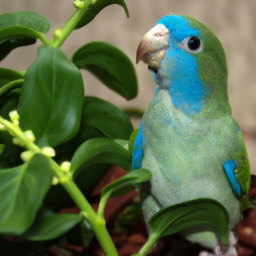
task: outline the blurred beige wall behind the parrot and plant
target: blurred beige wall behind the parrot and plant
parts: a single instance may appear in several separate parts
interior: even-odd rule
[[[0,0],[0,13],[31,10],[51,22],[48,38],[61,28],[75,11],[72,0]],[[252,170],[256,174],[256,1],[255,0],[126,0],[130,11],[127,19],[118,5],[105,8],[88,26],[76,30],[63,44],[68,57],[90,41],[107,41],[122,49],[135,65],[135,54],[142,36],[167,13],[192,16],[206,24],[219,37],[229,67],[229,98],[233,116],[244,132]],[[0,67],[25,70],[36,58],[40,45],[14,50]],[[1,49],[0,49],[1,50]],[[140,63],[135,66],[139,94],[127,102],[111,92],[91,74],[83,71],[85,94],[109,100],[121,108],[145,110],[153,97],[155,84]],[[134,121],[139,126],[139,121]]]

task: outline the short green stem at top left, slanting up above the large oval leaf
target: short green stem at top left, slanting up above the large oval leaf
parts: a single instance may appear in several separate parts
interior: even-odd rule
[[[76,27],[78,22],[83,17],[86,10],[87,10],[86,6],[84,6],[84,8],[82,8],[82,9],[77,9],[76,10],[76,12],[70,17],[70,19],[66,22],[64,27],[61,29],[61,36],[59,38],[55,38],[53,40],[53,42],[51,43],[52,46],[60,47],[65,42],[67,37],[74,30],[74,28]]]

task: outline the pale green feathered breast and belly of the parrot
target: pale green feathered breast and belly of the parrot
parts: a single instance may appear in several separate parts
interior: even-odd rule
[[[212,198],[226,207],[230,227],[239,220],[239,201],[223,170],[236,144],[233,118],[207,111],[187,116],[176,109],[168,90],[160,89],[143,117],[142,167],[152,172],[141,185],[146,219],[161,207]]]

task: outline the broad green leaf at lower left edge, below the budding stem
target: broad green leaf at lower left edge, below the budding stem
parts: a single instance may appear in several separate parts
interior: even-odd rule
[[[27,230],[51,180],[51,166],[41,154],[21,166],[0,170],[0,233],[19,235]]]

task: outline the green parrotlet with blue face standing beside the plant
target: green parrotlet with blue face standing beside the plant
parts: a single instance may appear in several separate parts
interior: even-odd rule
[[[140,60],[157,85],[132,152],[132,168],[152,172],[140,187],[146,222],[163,207],[210,198],[226,208],[231,230],[251,176],[243,135],[231,113],[219,39],[194,18],[166,15],[142,38]],[[220,251],[211,230],[184,234]]]

